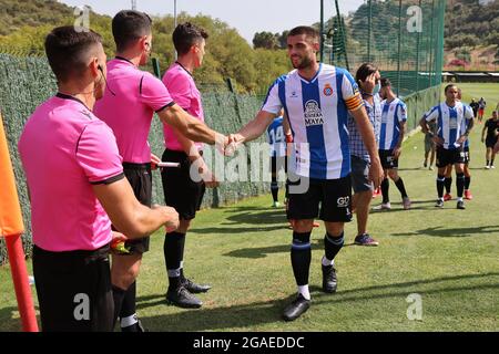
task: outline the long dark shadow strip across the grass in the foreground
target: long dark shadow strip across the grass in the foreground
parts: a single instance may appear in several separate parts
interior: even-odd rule
[[[468,281],[462,284],[462,281]],[[477,283],[477,281],[479,281]],[[448,284],[446,282],[458,282],[459,284]],[[472,283],[470,283],[472,282]],[[431,288],[428,289],[428,285]],[[485,274],[465,274],[455,277],[444,277],[427,280],[417,280],[410,282],[400,282],[393,284],[373,285],[366,288],[350,289],[342,291],[340,288],[336,294],[325,294],[319,287],[312,285],[313,305],[304,317],[313,315],[315,306],[328,304],[336,305],[340,303],[371,301],[379,299],[399,298],[405,301],[410,293],[421,295],[442,294],[448,292],[464,292],[477,290],[496,290],[499,287],[499,273],[491,272]],[[293,331],[293,324],[283,322],[282,312],[284,308],[295,298],[292,294],[284,299],[269,301],[258,301],[248,304],[218,306],[201,310],[181,310],[177,313],[155,316],[142,316],[143,323],[150,331],[220,331],[233,329],[247,329],[268,323],[279,323],[283,331]],[[145,302],[146,299],[154,300],[153,296],[139,298],[138,309],[144,309],[164,303],[163,300],[155,302]],[[163,299],[163,295],[161,295]],[[374,305],[374,304],[371,304]],[[342,308],[337,308],[340,311]],[[303,321],[298,319],[297,321]]]

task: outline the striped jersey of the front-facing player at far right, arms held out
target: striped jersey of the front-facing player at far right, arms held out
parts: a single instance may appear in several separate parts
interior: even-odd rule
[[[457,140],[465,133],[464,121],[472,118],[473,111],[461,102],[457,102],[454,107],[444,102],[425,114],[427,122],[437,123],[437,134],[444,139],[444,148],[450,150],[460,147]]]

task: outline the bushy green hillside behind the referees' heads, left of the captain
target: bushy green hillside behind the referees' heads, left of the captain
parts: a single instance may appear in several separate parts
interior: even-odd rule
[[[73,24],[74,9],[53,0],[0,0],[0,52],[20,55],[43,55],[47,33],[57,25]],[[3,11],[6,9],[6,11]],[[210,39],[205,64],[195,72],[203,86],[224,85],[233,79],[241,92],[264,93],[275,77],[289,71],[289,61],[282,50],[253,49],[227,23],[207,15],[179,15],[179,22],[191,21],[207,30]],[[164,72],[174,61],[172,15],[154,18],[153,56]],[[111,18],[95,12],[90,14],[90,28],[104,40],[108,56],[114,55]]]

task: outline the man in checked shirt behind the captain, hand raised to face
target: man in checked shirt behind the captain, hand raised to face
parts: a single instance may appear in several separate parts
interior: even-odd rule
[[[379,98],[381,75],[378,69],[371,63],[364,63],[355,75],[363,95],[370,128],[375,134],[376,142],[379,137],[379,125],[381,123],[381,102]],[[378,246],[379,242],[367,232],[370,202],[373,200],[373,183],[369,179],[370,156],[369,150],[364,145],[363,136],[359,133],[356,121],[348,117],[349,145],[352,154],[352,187],[354,198],[352,209],[357,216],[357,236],[354,243],[358,246]]]

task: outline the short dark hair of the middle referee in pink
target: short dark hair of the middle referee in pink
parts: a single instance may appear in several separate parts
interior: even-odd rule
[[[123,52],[141,37],[151,34],[152,19],[145,12],[122,10],[113,18],[112,29],[116,51]]]

